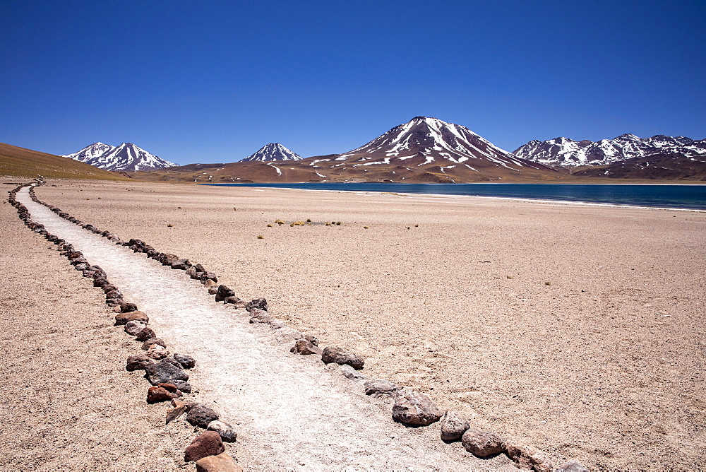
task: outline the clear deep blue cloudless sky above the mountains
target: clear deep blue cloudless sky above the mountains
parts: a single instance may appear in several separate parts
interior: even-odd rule
[[[706,1],[0,0],[0,141],[304,157],[417,115],[531,139],[706,138]]]

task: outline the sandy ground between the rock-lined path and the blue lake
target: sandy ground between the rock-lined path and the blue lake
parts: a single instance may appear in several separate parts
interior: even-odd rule
[[[37,195],[201,262],[359,350],[368,375],[558,463],[702,464],[703,213],[167,184]]]

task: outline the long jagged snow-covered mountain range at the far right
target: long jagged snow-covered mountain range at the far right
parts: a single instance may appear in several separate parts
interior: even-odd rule
[[[706,155],[706,140],[695,141],[683,136],[664,135],[640,138],[634,134],[621,134],[617,138],[594,143],[560,137],[549,141],[535,139],[517,148],[514,154],[546,165],[608,165],[653,154]]]

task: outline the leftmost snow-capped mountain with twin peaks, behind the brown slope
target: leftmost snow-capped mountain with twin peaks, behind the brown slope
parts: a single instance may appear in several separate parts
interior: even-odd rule
[[[104,150],[102,153],[100,151]],[[135,146],[133,143],[122,143],[114,147],[109,144],[95,143],[78,151],[78,153],[64,155],[65,158],[80,160],[81,162],[106,170],[151,170],[162,167],[174,167],[177,164],[158,158]]]

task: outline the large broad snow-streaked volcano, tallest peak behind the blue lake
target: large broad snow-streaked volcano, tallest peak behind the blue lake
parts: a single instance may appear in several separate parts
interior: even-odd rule
[[[460,165],[471,170],[475,170],[474,167],[478,165],[508,167],[513,170],[517,167],[545,168],[517,158],[465,126],[430,117],[414,117],[364,146],[335,156],[335,160],[346,160],[349,163],[357,161],[354,165],[393,163],[422,166],[436,163]]]

